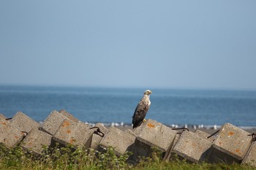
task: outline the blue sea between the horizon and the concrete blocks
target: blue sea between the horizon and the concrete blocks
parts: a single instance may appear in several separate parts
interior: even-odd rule
[[[21,111],[43,121],[51,111],[66,109],[88,123],[132,122],[142,88],[67,88],[0,86],[0,113]],[[256,91],[151,89],[146,119],[166,125],[256,126]]]

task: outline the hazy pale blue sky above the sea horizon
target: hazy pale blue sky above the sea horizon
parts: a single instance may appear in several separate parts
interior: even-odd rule
[[[0,1],[0,85],[256,89],[256,1]]]

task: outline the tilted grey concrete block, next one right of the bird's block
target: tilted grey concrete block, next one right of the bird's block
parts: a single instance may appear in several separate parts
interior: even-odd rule
[[[173,152],[182,158],[186,158],[194,163],[205,161],[211,147],[211,142],[203,139],[191,131],[183,131]]]

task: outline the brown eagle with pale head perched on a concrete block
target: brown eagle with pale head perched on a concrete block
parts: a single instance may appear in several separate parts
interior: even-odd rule
[[[135,113],[132,116],[133,128],[137,128],[141,125],[141,123],[146,121],[144,120],[144,118],[146,117],[148,108],[151,104],[151,101],[149,100],[149,96],[151,93],[151,90],[144,91],[143,98],[140,99],[140,102],[138,103],[138,106],[135,109]]]

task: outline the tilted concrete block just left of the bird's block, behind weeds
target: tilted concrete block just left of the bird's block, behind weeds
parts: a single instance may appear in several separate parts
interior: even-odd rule
[[[122,131],[115,127],[110,127],[99,146],[104,148],[113,147],[116,155],[122,155],[126,151],[132,151],[136,136],[129,131]]]

